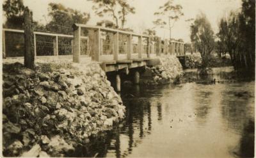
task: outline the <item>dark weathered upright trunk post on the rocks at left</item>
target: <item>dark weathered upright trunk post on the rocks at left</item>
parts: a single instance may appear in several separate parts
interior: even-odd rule
[[[35,68],[35,48],[34,48],[34,33],[33,33],[33,13],[29,11],[28,6],[24,9],[24,39],[25,53],[24,66],[26,68]]]

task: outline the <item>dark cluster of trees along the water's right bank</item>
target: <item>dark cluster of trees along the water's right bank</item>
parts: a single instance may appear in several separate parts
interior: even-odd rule
[[[231,11],[219,22],[219,31],[214,35],[204,13],[191,24],[191,42],[202,56],[202,66],[209,66],[212,52],[220,58],[228,53],[236,70],[255,72],[255,0],[242,0],[239,11]]]

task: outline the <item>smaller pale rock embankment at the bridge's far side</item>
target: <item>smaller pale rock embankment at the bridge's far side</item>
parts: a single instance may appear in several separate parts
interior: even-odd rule
[[[149,79],[143,80],[143,84],[158,85],[173,83],[179,80],[179,77],[183,74],[182,65],[176,56],[169,55],[159,57],[159,59],[160,65],[146,68],[146,73],[150,74],[150,77]]]

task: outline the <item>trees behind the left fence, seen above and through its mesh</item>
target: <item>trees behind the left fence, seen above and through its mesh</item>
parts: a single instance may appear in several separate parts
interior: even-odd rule
[[[125,28],[127,15],[135,13],[134,7],[130,6],[126,0],[111,0],[111,1],[94,1],[96,15],[104,17],[104,15],[112,14],[117,16],[118,22],[115,24],[112,20],[101,20],[97,22],[98,26],[106,26],[108,28],[118,28],[125,31],[132,31]],[[3,2],[3,11],[6,17],[6,22],[3,28],[24,29],[24,4],[22,0],[5,0]],[[108,10],[107,10],[108,8]],[[60,3],[49,3],[48,18],[45,18],[45,24],[33,21],[34,31],[61,33],[72,35],[72,24],[86,24],[90,20],[90,14],[68,8]],[[106,18],[106,17],[104,17]],[[115,19],[115,18],[114,18]],[[115,21],[115,20],[114,20]],[[120,26],[119,26],[120,22]],[[82,35],[86,36],[86,30],[82,30]],[[17,33],[6,32],[6,57],[23,56],[24,54],[24,36]],[[59,38],[59,54],[68,55],[72,52],[71,39]],[[82,48],[86,53],[86,44],[82,41]],[[36,36],[36,54],[38,56],[49,56],[54,53],[54,38],[51,36]]]

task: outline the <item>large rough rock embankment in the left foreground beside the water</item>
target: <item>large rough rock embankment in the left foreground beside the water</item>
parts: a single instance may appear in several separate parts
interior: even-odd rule
[[[125,107],[97,63],[3,64],[3,155],[63,157]]]

